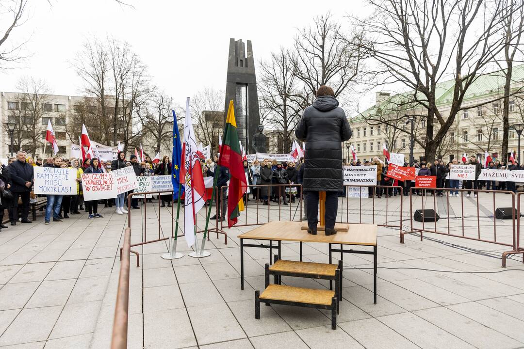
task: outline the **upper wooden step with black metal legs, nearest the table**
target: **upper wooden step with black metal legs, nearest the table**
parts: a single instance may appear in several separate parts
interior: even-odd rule
[[[336,276],[336,271],[340,271],[339,277]],[[330,280],[330,290],[333,289],[332,282],[335,282],[335,288],[338,288],[338,300],[342,300],[342,270],[343,264],[339,260],[339,264],[328,263],[313,263],[313,262],[297,262],[279,260],[278,255],[275,255],[275,262],[273,265],[266,264],[266,287],[269,285],[269,275],[274,275],[275,284],[280,285],[280,276],[296,276],[308,277],[312,279]]]

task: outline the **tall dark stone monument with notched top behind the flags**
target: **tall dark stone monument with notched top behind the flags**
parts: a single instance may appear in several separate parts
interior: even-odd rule
[[[251,41],[247,40],[247,54],[242,40],[230,39],[229,58],[227,61],[226,101],[224,122],[230,100],[235,105],[235,119],[238,139],[246,152],[253,154],[253,137],[260,124],[258,111],[257,80],[255,60]],[[263,135],[264,136],[264,135]],[[265,136],[264,136],[265,137]]]

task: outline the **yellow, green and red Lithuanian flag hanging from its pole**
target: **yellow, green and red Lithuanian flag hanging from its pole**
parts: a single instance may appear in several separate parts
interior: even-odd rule
[[[238,143],[233,100],[230,100],[230,106],[227,110],[219,165],[229,168],[231,175],[229,197],[227,199],[227,227],[231,228],[236,224],[240,212],[244,210],[243,196],[247,190],[246,175],[244,174],[244,165],[242,164],[242,151]]]

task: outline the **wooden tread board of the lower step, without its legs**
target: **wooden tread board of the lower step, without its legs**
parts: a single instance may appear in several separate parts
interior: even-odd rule
[[[271,284],[262,292],[259,298],[260,301],[278,300],[331,306],[331,299],[333,297],[335,297],[335,292],[330,290]]]

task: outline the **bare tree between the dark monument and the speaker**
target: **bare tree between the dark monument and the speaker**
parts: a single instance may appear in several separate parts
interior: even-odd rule
[[[265,110],[265,123],[279,132],[282,152],[291,151],[293,132],[310,97],[297,77],[293,56],[283,48],[271,53],[271,59],[260,63],[259,100]]]

